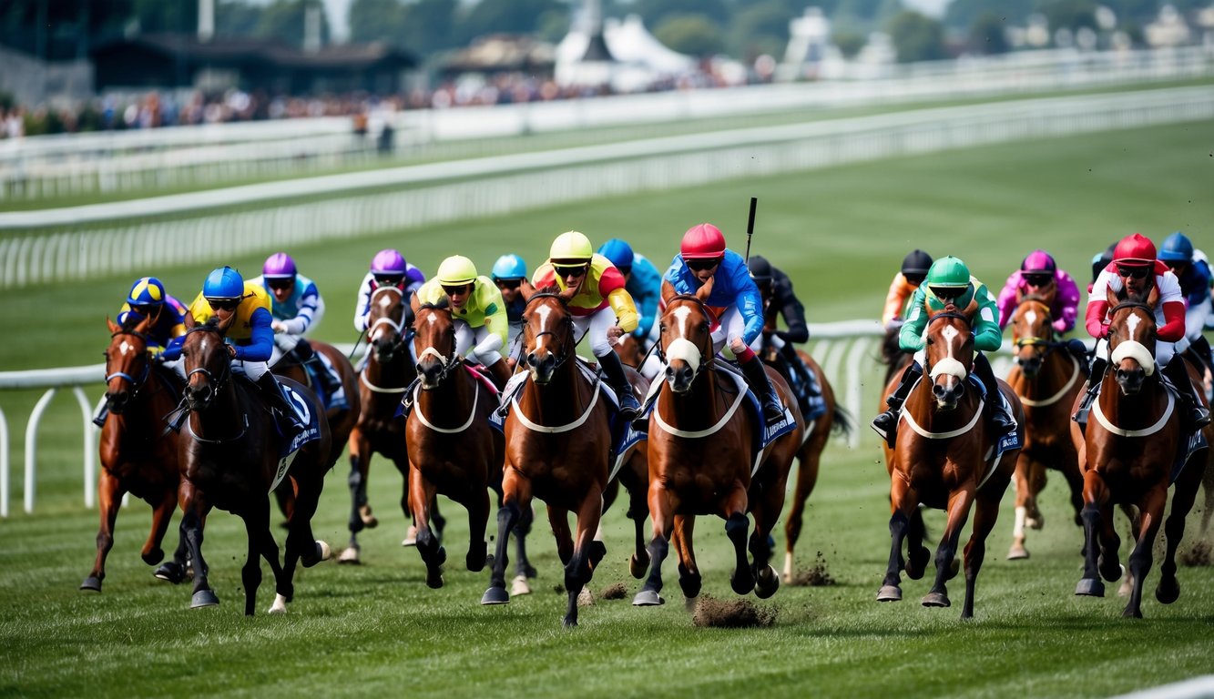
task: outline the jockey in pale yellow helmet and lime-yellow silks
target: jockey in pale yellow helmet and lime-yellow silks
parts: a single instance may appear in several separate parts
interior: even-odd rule
[[[489,370],[498,390],[505,388],[510,368],[500,350],[510,331],[506,303],[493,282],[476,273],[471,260],[463,255],[443,260],[438,274],[418,289],[418,302],[449,306],[455,325],[455,357],[471,351]]]

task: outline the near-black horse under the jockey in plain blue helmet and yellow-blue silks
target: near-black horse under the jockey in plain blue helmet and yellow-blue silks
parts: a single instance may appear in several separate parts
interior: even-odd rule
[[[329,547],[312,535],[312,515],[324,487],[329,461],[329,425],[318,420],[319,438],[300,447],[287,478],[295,491],[295,511],[287,534],[285,562],[278,563],[278,545],[270,530],[270,491],[279,471],[279,441],[274,417],[261,399],[260,390],[238,380],[223,336],[236,320],[215,318],[197,324],[186,314],[182,347],[187,385],[182,408],[188,411],[187,436],[180,439],[181,535],[189,547],[194,567],[191,607],[211,607],[219,598],[208,582],[203,558],[203,525],[212,507],[227,510],[244,521],[249,538],[248,557],[240,570],[244,585],[244,613],[253,615],[261,585],[259,555],[274,574],[277,596],[271,613],[287,610],[294,596],[295,566],[311,567],[329,557]],[[322,410],[319,400],[289,379],[282,382],[295,390],[310,411]]]

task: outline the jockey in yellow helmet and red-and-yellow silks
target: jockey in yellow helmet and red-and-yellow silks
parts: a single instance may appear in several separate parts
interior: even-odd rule
[[[624,275],[611,260],[596,255],[590,239],[569,231],[561,233],[549,248],[549,258],[532,277],[535,289],[556,286],[577,289],[569,300],[575,341],[590,335],[590,351],[602,369],[608,385],[619,399],[619,414],[632,420],[641,410],[632,386],[624,374],[624,364],[612,350],[619,336],[636,329],[636,306],[625,288]]]

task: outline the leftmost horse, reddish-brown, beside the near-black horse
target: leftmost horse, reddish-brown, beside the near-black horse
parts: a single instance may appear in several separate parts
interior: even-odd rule
[[[148,566],[164,558],[164,541],[172,511],[177,506],[177,433],[164,432],[164,416],[181,398],[181,383],[169,371],[153,366],[148,357],[147,330],[151,319],[127,319],[123,325],[106,319],[112,333],[106,350],[106,407],[109,415],[101,428],[101,473],[97,500],[101,528],[97,530],[97,558],[81,590],[101,592],[106,579],[106,557],[114,546],[114,523],[123,495],[134,494],[152,506],[152,532],[141,556]],[[181,540],[171,562],[155,576],[181,582],[186,576],[186,549]]]

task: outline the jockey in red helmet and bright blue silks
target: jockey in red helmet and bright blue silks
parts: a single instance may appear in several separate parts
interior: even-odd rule
[[[692,226],[683,234],[679,255],[666,269],[665,280],[679,294],[694,294],[713,279],[713,291],[705,305],[719,325],[713,330],[713,351],[720,352],[728,340],[730,352],[762,404],[767,426],[784,416],[784,404],[772,387],[764,363],[750,348],[762,334],[762,296],[750,278],[745,260],[725,246],[725,234],[711,223]]]

